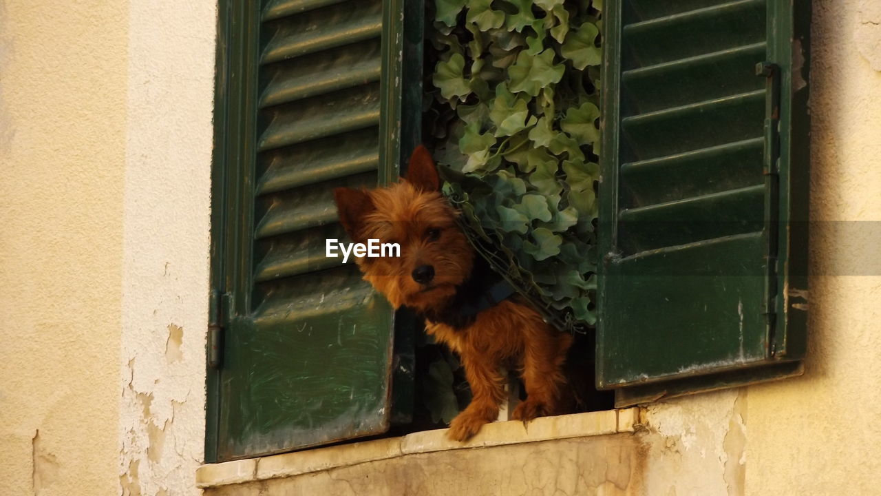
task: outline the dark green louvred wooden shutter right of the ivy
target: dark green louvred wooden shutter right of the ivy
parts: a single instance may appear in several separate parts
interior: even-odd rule
[[[618,405],[801,370],[810,8],[606,4],[596,368]]]

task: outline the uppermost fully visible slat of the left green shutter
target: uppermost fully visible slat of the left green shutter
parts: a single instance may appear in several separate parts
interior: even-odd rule
[[[261,64],[378,37],[382,32],[381,3],[346,2],[273,24],[277,29],[263,49]]]

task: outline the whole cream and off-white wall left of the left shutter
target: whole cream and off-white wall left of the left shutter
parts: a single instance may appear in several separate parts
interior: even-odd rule
[[[200,492],[216,19],[0,2],[0,494]]]

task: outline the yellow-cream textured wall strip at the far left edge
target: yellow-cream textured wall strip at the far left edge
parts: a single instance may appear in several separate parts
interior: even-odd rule
[[[117,492],[128,24],[0,2],[0,494]]]

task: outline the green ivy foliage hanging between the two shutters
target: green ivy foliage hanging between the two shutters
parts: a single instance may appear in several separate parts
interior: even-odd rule
[[[493,267],[570,330],[596,321],[602,10],[434,0],[426,49],[426,132],[445,194]]]

